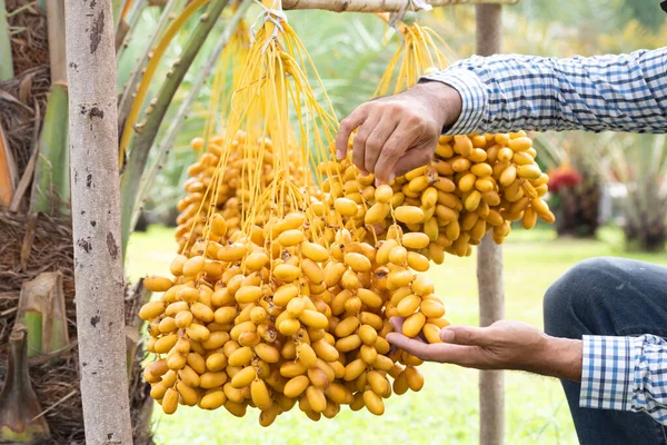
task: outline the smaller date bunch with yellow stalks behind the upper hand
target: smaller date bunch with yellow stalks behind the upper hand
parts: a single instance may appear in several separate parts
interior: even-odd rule
[[[420,76],[449,66],[436,41],[446,43],[432,30],[417,22],[399,22],[398,30],[401,44],[376,96],[387,95],[391,85],[394,93],[400,92]],[[398,222],[406,234],[426,235],[428,243],[416,251],[440,264],[445,253],[470,255],[471,246],[487,231],[492,230],[494,240],[502,243],[512,221],[521,220],[526,229],[535,226],[537,217],[554,222],[554,214],[541,199],[548,177],[535,161],[536,155],[524,131],[442,136],[428,166],[396,178],[382,190],[376,191],[372,176],[362,185],[354,180],[359,170],[349,152],[337,171],[346,172],[340,178],[345,197],[368,209],[355,217],[364,219],[374,237],[384,239],[387,227]],[[325,182],[325,191],[328,187]]]

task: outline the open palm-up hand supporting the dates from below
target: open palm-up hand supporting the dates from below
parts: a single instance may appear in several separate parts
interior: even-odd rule
[[[579,382],[581,340],[550,337],[521,322],[496,322],[489,327],[447,326],[444,343],[429,345],[401,332],[404,318],[390,319],[387,340],[417,357],[477,369],[518,369]]]

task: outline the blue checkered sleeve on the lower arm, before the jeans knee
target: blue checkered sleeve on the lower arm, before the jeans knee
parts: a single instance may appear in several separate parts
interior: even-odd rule
[[[646,412],[667,425],[667,342],[585,335],[579,406]]]

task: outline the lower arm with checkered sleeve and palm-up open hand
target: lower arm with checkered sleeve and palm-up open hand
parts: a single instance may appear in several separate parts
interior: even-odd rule
[[[479,328],[448,326],[444,343],[407,338],[394,317],[387,340],[426,360],[477,369],[517,369],[581,382],[584,408],[646,412],[667,425],[667,342],[654,335],[581,340],[551,337],[519,322]]]

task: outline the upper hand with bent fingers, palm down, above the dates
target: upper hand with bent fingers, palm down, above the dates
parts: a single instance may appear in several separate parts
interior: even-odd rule
[[[352,160],[379,184],[428,164],[445,126],[461,112],[461,98],[448,85],[418,83],[396,96],[359,106],[340,122],[336,157],[346,156],[352,131]]]

